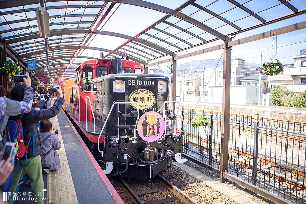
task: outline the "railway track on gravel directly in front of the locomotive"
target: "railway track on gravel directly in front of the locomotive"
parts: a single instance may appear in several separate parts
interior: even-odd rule
[[[186,195],[183,191],[181,191],[179,188],[183,187],[184,185],[174,185],[170,183],[166,178],[162,177],[160,174],[154,177],[153,180],[148,180],[148,181],[142,181],[142,182],[136,182],[136,183],[131,183],[128,184],[123,178],[118,178],[118,182],[121,184],[123,189],[125,190],[125,194],[121,194],[121,198],[126,198],[129,197],[135,204],[143,204],[144,201],[140,199],[140,196],[149,196],[149,194],[161,192],[161,191],[171,191],[174,196],[170,196],[168,198],[164,199],[159,199],[159,200],[154,200],[154,201],[149,201],[145,202],[146,204],[159,204],[159,203],[167,203],[167,202],[173,202],[176,200],[182,200],[185,203],[192,203],[196,204],[195,201],[191,199],[191,197],[196,196],[195,193],[188,194]],[[144,191],[133,191],[132,186],[134,185],[142,185],[142,184],[150,184],[153,182],[160,182],[163,184],[163,187],[160,188],[152,188]]]

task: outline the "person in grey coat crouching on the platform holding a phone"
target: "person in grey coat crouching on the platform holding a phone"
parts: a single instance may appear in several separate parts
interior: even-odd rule
[[[43,156],[41,165],[43,173],[49,173],[48,169],[58,169],[61,167],[59,155],[56,150],[61,148],[62,142],[58,137],[51,133],[52,123],[49,121],[40,122],[41,127],[41,147],[43,149]]]

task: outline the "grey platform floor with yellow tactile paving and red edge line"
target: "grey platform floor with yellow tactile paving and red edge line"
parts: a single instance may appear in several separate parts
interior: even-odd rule
[[[52,101],[53,102],[53,101]],[[91,155],[87,146],[69,121],[63,110],[50,119],[54,129],[59,129],[58,137],[62,146],[57,150],[61,167],[43,174],[45,203],[123,203],[101,167]],[[18,192],[31,192],[24,183],[17,187]],[[16,201],[16,204],[33,201]]]

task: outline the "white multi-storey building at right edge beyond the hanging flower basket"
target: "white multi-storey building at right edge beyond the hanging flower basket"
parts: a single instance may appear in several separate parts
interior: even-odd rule
[[[268,82],[275,85],[286,85],[288,91],[301,93],[306,90],[306,55],[293,56],[293,66],[285,66],[284,74],[268,76]]]

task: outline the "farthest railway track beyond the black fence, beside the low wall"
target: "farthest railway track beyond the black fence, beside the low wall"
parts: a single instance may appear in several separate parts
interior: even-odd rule
[[[189,119],[192,120],[192,118],[190,118],[189,116],[186,116],[184,119],[188,121]],[[214,121],[213,125],[221,126],[221,122]],[[248,133],[254,133],[254,127],[248,126],[245,124],[239,124],[239,123],[237,124],[237,123],[231,122],[230,129],[240,130],[240,131],[244,131]],[[265,128],[259,127],[258,129],[259,135],[263,135],[263,136],[267,135],[267,136],[272,136],[274,138],[279,138],[282,140],[296,141],[296,142],[306,144],[306,135],[303,135],[301,133],[292,133],[292,131],[293,131],[292,129],[291,130],[287,129],[286,131],[284,131],[284,130],[273,130],[273,129],[269,129],[266,127]]]

